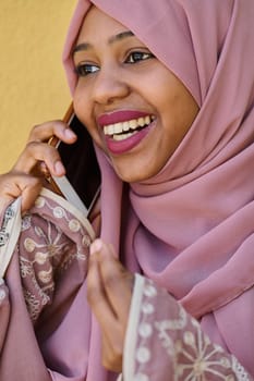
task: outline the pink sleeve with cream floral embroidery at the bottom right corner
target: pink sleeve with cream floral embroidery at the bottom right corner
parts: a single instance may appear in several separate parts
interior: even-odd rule
[[[166,290],[141,275],[135,275],[122,379],[253,380],[234,356],[210,342]]]

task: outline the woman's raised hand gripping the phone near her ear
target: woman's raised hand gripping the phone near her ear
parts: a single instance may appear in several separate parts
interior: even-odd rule
[[[58,150],[47,143],[52,136],[66,144],[76,139],[75,134],[61,121],[35,126],[13,169],[0,175],[0,210],[20,195],[22,211],[29,209],[43,186],[45,174],[61,176],[65,173]]]

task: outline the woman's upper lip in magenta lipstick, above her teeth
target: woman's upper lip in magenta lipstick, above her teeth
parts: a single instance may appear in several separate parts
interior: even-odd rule
[[[119,110],[110,113],[105,113],[98,116],[98,124],[102,127],[105,125],[131,121],[133,119],[150,115],[149,112],[137,110]]]

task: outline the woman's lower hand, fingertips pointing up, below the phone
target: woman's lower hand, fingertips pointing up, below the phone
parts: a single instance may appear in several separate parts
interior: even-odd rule
[[[116,258],[111,245],[90,245],[87,298],[102,335],[102,365],[122,371],[122,356],[134,275]]]

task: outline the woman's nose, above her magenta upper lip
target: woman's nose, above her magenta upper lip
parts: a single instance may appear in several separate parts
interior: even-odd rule
[[[109,105],[130,94],[130,86],[114,67],[100,69],[93,88],[93,99],[100,105]]]

